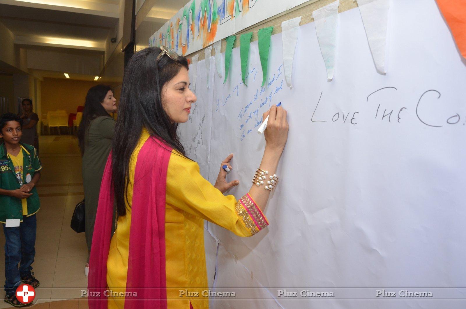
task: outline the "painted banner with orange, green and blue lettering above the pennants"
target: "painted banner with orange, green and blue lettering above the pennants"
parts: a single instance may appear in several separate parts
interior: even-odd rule
[[[150,38],[188,55],[306,0],[191,0]]]

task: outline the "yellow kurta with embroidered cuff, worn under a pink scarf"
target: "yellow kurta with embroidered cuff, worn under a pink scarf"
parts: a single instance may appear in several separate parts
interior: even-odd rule
[[[130,161],[128,200],[132,201],[137,155],[149,138],[144,130]],[[148,188],[150,190],[150,188]],[[199,165],[176,150],[171,152],[167,170],[165,204],[165,255],[168,308],[208,308],[204,251],[204,219],[243,237],[252,236],[268,225],[260,209],[247,195],[237,201],[224,196],[199,174]],[[128,272],[131,209],[118,218],[107,260],[107,285],[113,292],[125,292]],[[149,283],[148,283],[149,285]],[[180,290],[198,292],[199,297],[180,296]],[[193,294],[191,294],[193,295]],[[109,308],[123,308],[124,297],[109,297]]]

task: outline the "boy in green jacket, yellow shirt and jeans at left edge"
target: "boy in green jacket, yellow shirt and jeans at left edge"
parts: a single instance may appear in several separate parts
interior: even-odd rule
[[[13,113],[0,118],[0,222],[5,234],[4,301],[15,306],[23,304],[15,291],[21,283],[37,288],[39,281],[31,273],[35,255],[36,212],[40,202],[35,185],[41,177],[41,161],[36,149],[20,143],[22,119]],[[20,267],[18,264],[21,262]]]

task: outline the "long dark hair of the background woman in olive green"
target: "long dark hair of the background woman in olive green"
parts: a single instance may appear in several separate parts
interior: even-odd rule
[[[113,92],[112,87],[99,84],[91,87],[86,95],[86,103],[84,104],[84,111],[78,128],[78,143],[81,148],[81,155],[84,155],[84,136],[90,121],[99,116],[111,117],[101,104],[109,91]]]

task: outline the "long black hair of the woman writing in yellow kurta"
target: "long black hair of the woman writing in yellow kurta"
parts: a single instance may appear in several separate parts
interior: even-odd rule
[[[145,127],[151,136],[164,140],[185,156],[185,149],[177,135],[178,123],[171,123],[162,106],[162,87],[175,77],[181,68],[189,70],[188,61],[179,56],[175,61],[161,50],[148,47],[135,53],[123,75],[118,106],[118,121],[112,146],[112,185],[118,216],[126,214],[128,201],[130,158]]]

